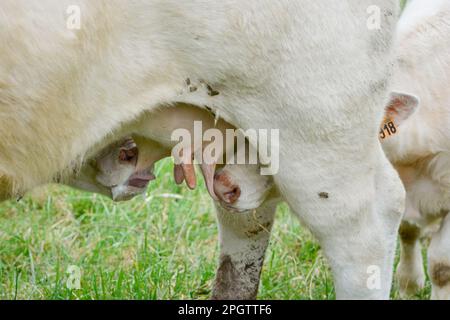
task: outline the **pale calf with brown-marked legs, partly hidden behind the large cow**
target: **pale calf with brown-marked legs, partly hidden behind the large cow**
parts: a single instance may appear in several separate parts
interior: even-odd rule
[[[393,87],[420,107],[383,147],[406,188],[397,279],[403,296],[423,288],[419,238],[438,223],[428,248],[432,298],[450,299],[450,2],[410,1],[398,27]]]

